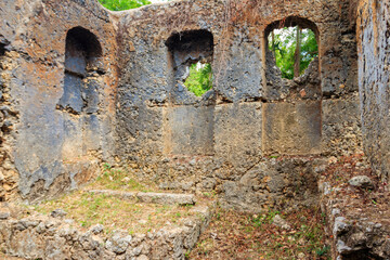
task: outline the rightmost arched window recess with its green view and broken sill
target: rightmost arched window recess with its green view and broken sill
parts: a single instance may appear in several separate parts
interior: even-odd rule
[[[316,25],[290,16],[270,24],[264,32],[268,99],[321,99]]]

